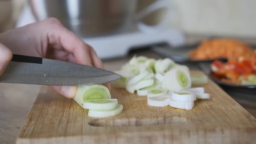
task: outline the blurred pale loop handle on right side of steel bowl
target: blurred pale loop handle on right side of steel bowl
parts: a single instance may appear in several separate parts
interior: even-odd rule
[[[140,21],[141,18],[143,18],[144,16],[147,16],[149,13],[152,13],[162,8],[167,8],[167,13],[164,16],[164,19],[157,25],[151,26]],[[151,32],[156,32],[156,31],[161,31],[163,29],[166,29],[170,25],[172,9],[173,7],[171,5],[170,0],[157,0],[156,2],[150,4],[145,9],[139,11],[135,16],[135,20],[138,22],[137,23],[138,29],[145,33],[151,33]]]

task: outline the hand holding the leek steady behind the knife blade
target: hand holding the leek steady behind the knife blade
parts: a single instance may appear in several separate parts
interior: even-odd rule
[[[104,69],[95,50],[66,29],[59,20],[49,18],[0,34],[0,42],[14,54],[57,59]],[[109,85],[106,85],[109,88]],[[73,98],[77,87],[50,86]]]

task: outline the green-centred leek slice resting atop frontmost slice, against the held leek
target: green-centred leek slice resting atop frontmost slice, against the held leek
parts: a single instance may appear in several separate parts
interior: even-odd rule
[[[117,108],[118,100],[117,99],[93,99],[84,102],[85,109],[92,110],[112,110]]]

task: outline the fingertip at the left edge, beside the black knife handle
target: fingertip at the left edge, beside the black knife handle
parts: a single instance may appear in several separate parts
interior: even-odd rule
[[[3,74],[12,58],[13,54],[10,49],[0,43],[0,75]]]

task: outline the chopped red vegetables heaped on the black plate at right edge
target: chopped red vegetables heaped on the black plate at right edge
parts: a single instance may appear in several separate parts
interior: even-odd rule
[[[241,56],[238,59],[229,59],[226,63],[215,60],[211,69],[222,82],[256,85],[256,50],[248,58]]]

